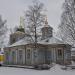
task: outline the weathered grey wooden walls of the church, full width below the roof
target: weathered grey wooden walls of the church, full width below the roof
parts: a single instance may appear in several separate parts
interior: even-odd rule
[[[33,45],[6,48],[4,50],[4,63],[9,65],[36,65],[50,64],[52,62],[69,64],[71,62],[70,48],[71,46],[69,45],[38,45],[36,55],[35,47]],[[58,50],[61,50],[62,54],[60,51],[58,54]],[[15,53],[15,58],[12,58],[13,51]]]

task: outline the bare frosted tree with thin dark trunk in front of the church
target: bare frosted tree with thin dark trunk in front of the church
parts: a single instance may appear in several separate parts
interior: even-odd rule
[[[44,12],[44,4],[35,0],[33,4],[29,6],[29,9],[26,11],[25,20],[28,26],[29,32],[34,36],[35,43],[35,57],[37,56],[37,32],[38,27],[44,25],[45,15]]]

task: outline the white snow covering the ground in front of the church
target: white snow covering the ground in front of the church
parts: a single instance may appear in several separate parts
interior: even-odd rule
[[[62,70],[61,66],[55,65],[49,70],[33,70],[23,68],[0,67],[0,75],[75,75],[74,70]]]

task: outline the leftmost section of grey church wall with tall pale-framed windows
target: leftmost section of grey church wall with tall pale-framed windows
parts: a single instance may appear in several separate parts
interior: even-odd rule
[[[22,51],[19,54],[19,51]],[[13,54],[13,55],[12,55]],[[22,59],[20,59],[22,57]],[[23,65],[25,64],[25,48],[24,46],[11,47],[4,50],[4,63],[11,65]]]

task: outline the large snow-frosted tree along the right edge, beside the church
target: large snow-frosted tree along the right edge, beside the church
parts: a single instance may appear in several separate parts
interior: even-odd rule
[[[64,41],[75,42],[75,0],[65,0],[63,8],[59,34]]]

